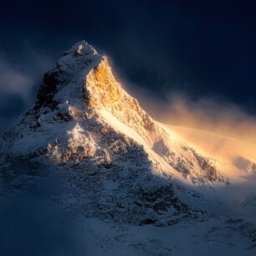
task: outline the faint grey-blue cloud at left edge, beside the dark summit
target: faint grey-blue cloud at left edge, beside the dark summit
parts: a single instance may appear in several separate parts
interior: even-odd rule
[[[0,51],[0,97],[2,104],[12,97],[18,97],[26,105],[31,103],[40,79],[52,59],[38,54],[34,49],[24,49],[22,59],[13,59]]]

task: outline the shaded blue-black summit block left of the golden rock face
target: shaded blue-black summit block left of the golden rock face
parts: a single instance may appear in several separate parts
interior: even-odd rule
[[[53,110],[59,102],[81,99],[86,75],[90,69],[98,66],[102,59],[103,56],[84,40],[74,44],[64,52],[54,69],[44,74],[38,90],[36,109],[48,106]]]

